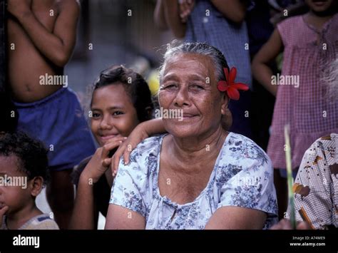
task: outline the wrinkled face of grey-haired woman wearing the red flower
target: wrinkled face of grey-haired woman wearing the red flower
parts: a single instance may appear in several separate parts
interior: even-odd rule
[[[163,110],[181,110],[183,120],[163,118],[165,129],[177,138],[213,133],[220,126],[227,98],[217,90],[211,58],[180,53],[165,65],[159,102]]]

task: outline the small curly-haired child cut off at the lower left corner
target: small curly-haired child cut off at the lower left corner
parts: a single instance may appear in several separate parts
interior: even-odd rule
[[[0,229],[58,229],[35,202],[47,172],[41,142],[21,132],[0,135]]]

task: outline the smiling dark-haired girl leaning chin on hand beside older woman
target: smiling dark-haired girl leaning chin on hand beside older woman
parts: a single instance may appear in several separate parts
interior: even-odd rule
[[[78,188],[71,229],[96,229],[98,212],[106,216],[111,156],[138,123],[150,119],[152,110],[148,84],[138,73],[123,66],[101,72],[91,99],[91,131],[100,148],[73,172]]]

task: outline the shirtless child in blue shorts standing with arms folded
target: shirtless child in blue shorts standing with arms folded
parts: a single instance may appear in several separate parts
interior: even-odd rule
[[[73,209],[71,169],[95,152],[76,94],[63,68],[76,43],[76,0],[9,0],[9,88],[18,129],[42,140],[51,180],[46,194],[56,222],[68,227]]]

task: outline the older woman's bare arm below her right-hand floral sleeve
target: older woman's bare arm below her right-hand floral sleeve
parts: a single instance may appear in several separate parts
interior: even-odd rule
[[[205,229],[262,229],[267,219],[265,212],[245,207],[220,207]]]

